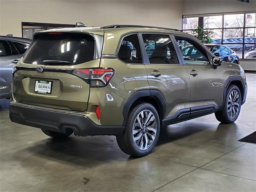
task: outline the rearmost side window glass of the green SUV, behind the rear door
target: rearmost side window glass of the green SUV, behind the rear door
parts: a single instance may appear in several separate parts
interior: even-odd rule
[[[140,42],[137,34],[124,38],[118,52],[118,58],[126,63],[142,64]]]

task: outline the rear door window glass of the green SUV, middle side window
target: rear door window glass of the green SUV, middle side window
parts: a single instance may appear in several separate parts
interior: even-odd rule
[[[169,35],[142,34],[150,64],[179,64]]]

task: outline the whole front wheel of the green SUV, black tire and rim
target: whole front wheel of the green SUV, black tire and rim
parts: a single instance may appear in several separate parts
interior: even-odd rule
[[[215,112],[215,116],[222,123],[233,123],[239,116],[242,104],[241,93],[237,86],[230,85],[228,87],[224,102],[222,110]]]

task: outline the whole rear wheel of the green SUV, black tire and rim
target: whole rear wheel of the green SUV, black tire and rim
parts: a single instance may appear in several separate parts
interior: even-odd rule
[[[156,108],[149,103],[141,103],[130,110],[124,133],[117,135],[116,140],[124,153],[142,157],[152,152],[159,132],[160,120]]]

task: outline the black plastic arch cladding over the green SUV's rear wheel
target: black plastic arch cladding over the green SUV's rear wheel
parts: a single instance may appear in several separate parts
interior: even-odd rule
[[[159,115],[160,123],[162,123],[162,119],[165,116],[166,113],[166,101],[164,99],[164,96],[159,91],[156,90],[142,90],[135,92],[124,104],[123,109],[123,116],[124,116],[124,123],[123,125],[126,125],[127,117],[129,114],[129,111],[136,106],[139,103],[147,102],[152,104]]]

